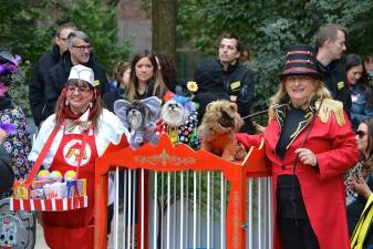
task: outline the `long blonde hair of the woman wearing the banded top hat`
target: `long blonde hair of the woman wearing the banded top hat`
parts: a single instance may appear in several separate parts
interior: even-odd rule
[[[284,87],[286,81],[287,81],[287,77],[284,77],[281,81],[277,92],[269,98],[269,101],[270,101],[270,107],[269,107],[269,114],[268,114],[269,118],[273,117],[274,106],[291,102],[291,100],[288,95],[288,92]],[[321,98],[332,98],[332,95],[329,92],[329,90],[325,87],[325,85],[322,81],[314,79],[313,92],[311,93],[311,95],[309,97],[309,101],[307,102],[307,104],[304,106],[302,106],[302,108],[308,108],[312,100],[320,101]]]

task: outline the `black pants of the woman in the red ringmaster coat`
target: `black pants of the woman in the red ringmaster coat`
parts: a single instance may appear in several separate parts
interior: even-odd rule
[[[279,230],[283,249],[320,249],[309,219],[279,217]]]

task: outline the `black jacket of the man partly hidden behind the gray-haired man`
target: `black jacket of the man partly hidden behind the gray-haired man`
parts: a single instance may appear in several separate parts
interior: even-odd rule
[[[31,83],[29,86],[29,101],[35,124],[39,126],[48,116],[43,114],[45,108],[45,76],[49,71],[59,63],[61,59],[60,48],[54,45],[51,51],[45,52],[32,71]]]

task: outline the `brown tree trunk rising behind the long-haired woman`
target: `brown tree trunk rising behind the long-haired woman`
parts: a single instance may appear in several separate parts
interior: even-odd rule
[[[153,52],[176,54],[177,0],[153,0]]]

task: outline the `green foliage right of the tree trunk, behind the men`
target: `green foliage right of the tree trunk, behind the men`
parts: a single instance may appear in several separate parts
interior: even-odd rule
[[[321,24],[336,22],[350,30],[349,53],[367,54],[373,39],[373,0],[184,0],[179,2],[178,40],[216,56],[224,32],[237,33],[253,52],[255,107],[267,105],[279,83],[284,50],[313,43]]]

